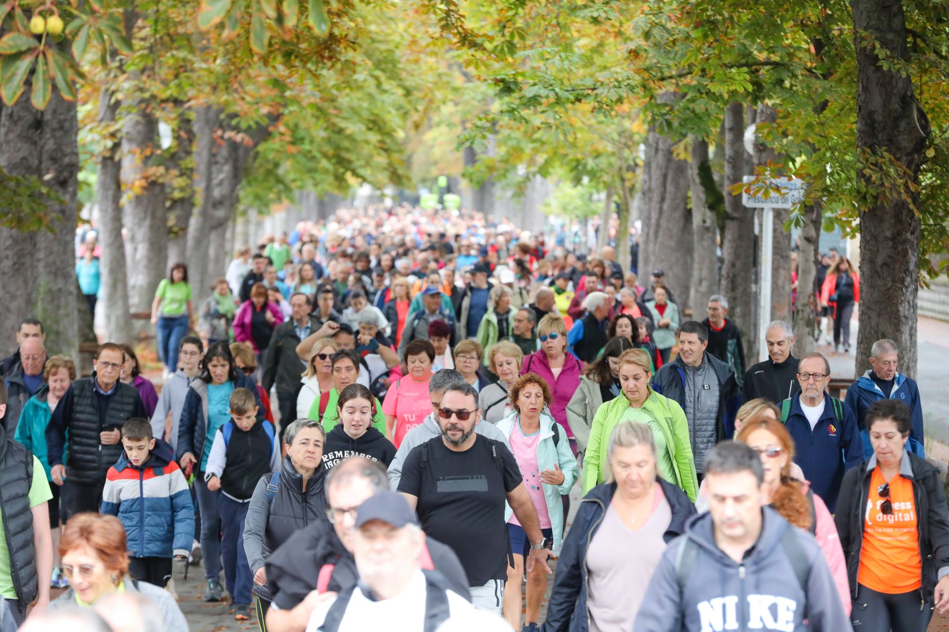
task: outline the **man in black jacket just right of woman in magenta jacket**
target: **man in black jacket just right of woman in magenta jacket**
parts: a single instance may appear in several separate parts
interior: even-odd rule
[[[290,297],[290,319],[282,322],[273,330],[270,346],[264,356],[264,375],[261,386],[270,392],[277,386],[277,404],[280,406],[281,424],[286,426],[295,418],[293,393],[300,384],[300,374],[307,368],[296,354],[297,345],[307,335],[316,331],[309,316],[311,306],[309,297],[298,292]]]

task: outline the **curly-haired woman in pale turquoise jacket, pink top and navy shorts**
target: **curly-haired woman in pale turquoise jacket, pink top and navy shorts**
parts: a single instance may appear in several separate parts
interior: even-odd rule
[[[544,412],[551,399],[550,388],[536,373],[529,373],[511,385],[511,404],[514,411],[497,423],[511,443],[511,449],[524,478],[541,532],[552,551],[560,551],[564,534],[564,503],[561,496],[567,495],[580,476],[577,460],[573,456],[567,433],[558,427],[553,417]],[[508,584],[504,591],[504,618],[515,630],[521,629],[521,579],[524,577],[524,560],[530,542],[524,529],[513,515],[511,505],[505,508],[508,535],[514,566],[508,567]],[[528,573],[527,612],[524,624],[536,625],[540,616],[540,605],[547,591],[547,574],[539,566]]]

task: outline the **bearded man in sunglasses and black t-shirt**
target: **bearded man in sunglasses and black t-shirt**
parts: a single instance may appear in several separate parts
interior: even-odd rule
[[[506,503],[530,540],[527,569],[547,572],[549,542],[511,450],[477,434],[477,391],[468,384],[445,388],[438,409],[441,436],[409,453],[398,491],[419,514],[422,529],[455,550],[468,575],[475,607],[500,614],[510,543]]]

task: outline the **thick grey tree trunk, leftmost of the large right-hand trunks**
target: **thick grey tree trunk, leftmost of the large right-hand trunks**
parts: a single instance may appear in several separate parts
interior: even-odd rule
[[[676,99],[664,94],[661,100]],[[642,242],[640,270],[661,268],[679,298],[679,312],[690,307],[692,221],[688,211],[689,163],[672,153],[675,142],[649,128],[642,168]],[[688,227],[688,230],[685,228]],[[627,256],[628,258],[628,256]]]

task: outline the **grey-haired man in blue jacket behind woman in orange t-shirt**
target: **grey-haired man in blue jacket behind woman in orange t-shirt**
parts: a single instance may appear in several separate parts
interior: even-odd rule
[[[877,340],[870,348],[869,361],[872,369],[867,370],[847,388],[847,399],[844,400],[857,415],[857,427],[860,428],[860,438],[864,442],[864,457],[869,459],[873,454],[873,446],[870,445],[864,424],[866,409],[883,399],[898,399],[909,407],[913,415],[913,427],[909,432],[906,449],[924,457],[920,388],[916,386],[916,382],[897,370],[900,353],[896,343],[885,338]]]

